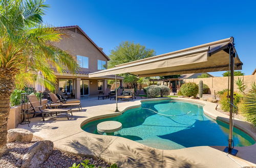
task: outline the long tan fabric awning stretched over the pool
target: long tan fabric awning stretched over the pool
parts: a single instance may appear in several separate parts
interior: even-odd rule
[[[131,73],[140,77],[164,76],[184,73],[225,71],[229,68],[228,45],[231,38],[202,44],[155,57],[117,65],[114,68],[90,73],[89,77]],[[234,61],[235,69],[242,69],[239,57]]]

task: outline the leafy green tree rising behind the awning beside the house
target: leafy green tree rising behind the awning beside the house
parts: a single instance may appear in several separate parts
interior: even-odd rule
[[[154,49],[148,49],[143,45],[135,44],[134,42],[124,41],[111,50],[109,55],[110,61],[108,62],[109,68],[115,65],[129,63],[152,57],[156,54]]]

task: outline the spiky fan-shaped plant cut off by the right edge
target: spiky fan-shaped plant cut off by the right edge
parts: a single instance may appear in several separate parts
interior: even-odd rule
[[[253,126],[256,126],[256,85],[251,83],[251,89],[244,96],[242,112]]]

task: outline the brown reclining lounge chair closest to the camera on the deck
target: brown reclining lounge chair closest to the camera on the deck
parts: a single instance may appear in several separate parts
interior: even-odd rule
[[[41,114],[42,115],[42,121],[45,121],[45,115],[51,115],[52,114],[59,114],[59,113],[66,113],[67,114],[67,118],[69,120],[69,115],[68,113],[71,113],[71,116],[73,116],[72,114],[72,109],[59,109],[59,108],[55,108],[55,109],[43,109],[42,106],[49,106],[49,104],[44,104],[44,105],[40,105],[39,100],[37,99],[37,97],[35,95],[27,95],[28,100],[31,104],[32,110],[34,111],[34,116],[37,114]],[[33,116],[33,117],[34,117]]]

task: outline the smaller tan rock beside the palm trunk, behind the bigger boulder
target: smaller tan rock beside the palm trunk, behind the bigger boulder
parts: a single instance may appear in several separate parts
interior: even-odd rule
[[[7,142],[31,142],[33,133],[27,129],[15,128],[9,129],[7,134]]]

